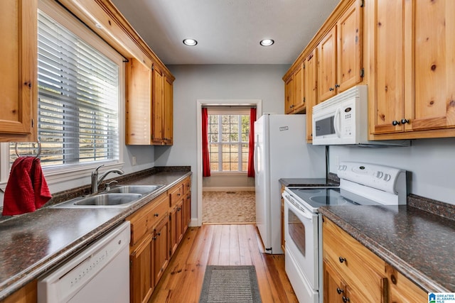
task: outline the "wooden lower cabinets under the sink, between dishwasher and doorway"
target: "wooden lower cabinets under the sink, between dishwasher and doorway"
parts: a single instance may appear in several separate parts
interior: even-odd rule
[[[148,302],[178,248],[191,217],[190,188],[188,177],[127,218],[132,226],[129,248],[132,303]]]

